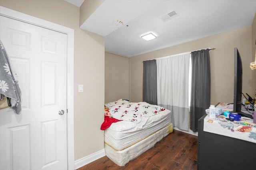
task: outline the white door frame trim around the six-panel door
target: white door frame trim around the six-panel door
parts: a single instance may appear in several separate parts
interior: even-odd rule
[[[74,170],[74,29],[0,6],[0,15],[67,34],[67,150],[68,169]]]

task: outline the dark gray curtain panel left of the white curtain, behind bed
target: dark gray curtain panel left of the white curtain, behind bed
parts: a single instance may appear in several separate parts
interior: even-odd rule
[[[156,60],[143,61],[143,102],[157,105]]]

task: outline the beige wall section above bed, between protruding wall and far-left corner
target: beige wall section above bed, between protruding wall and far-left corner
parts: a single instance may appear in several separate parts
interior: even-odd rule
[[[129,100],[129,58],[105,52],[105,103]]]

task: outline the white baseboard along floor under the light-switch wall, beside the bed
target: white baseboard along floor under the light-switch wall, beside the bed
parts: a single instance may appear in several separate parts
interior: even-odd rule
[[[85,156],[84,158],[78,159],[75,161],[75,169],[81,168],[82,166],[87,165],[99,158],[102,158],[103,156],[106,156],[105,149],[99,150],[98,152]]]

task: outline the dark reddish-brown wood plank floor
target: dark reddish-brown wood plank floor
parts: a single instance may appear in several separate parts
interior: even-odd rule
[[[197,137],[174,130],[154,147],[120,167],[104,156],[78,170],[196,170]]]

